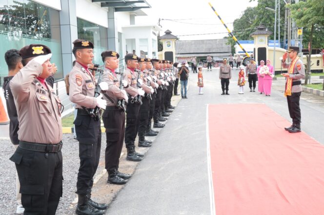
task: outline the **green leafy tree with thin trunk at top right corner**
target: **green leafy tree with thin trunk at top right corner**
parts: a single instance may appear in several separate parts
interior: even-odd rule
[[[296,20],[297,26],[310,28],[309,50],[312,50],[315,29],[324,26],[324,0],[301,1],[297,4],[289,5],[289,7],[291,9],[291,16],[294,18],[294,20]],[[307,57],[307,73],[305,77],[306,84],[311,71],[310,59],[311,52]]]

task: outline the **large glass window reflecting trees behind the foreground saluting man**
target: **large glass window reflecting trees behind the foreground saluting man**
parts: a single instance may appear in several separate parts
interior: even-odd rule
[[[48,46],[51,62],[58,66],[55,78],[63,77],[60,32],[60,12],[30,0],[0,0],[0,56],[9,49],[37,43]],[[0,60],[0,76],[7,76],[8,68]]]

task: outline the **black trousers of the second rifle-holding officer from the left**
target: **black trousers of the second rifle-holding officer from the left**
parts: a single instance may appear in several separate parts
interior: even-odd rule
[[[107,106],[102,114],[102,121],[107,137],[104,156],[105,169],[108,172],[118,170],[125,137],[125,112],[118,107]]]

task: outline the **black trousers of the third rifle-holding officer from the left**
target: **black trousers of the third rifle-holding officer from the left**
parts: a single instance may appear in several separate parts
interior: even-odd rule
[[[126,148],[135,146],[135,139],[139,131],[140,107],[139,103],[131,103],[128,99],[126,106],[126,128],[125,128],[125,145]]]

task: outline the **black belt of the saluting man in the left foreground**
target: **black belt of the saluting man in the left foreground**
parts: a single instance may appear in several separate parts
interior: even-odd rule
[[[61,151],[62,142],[56,144],[41,144],[19,141],[19,147],[30,151],[57,153]]]

